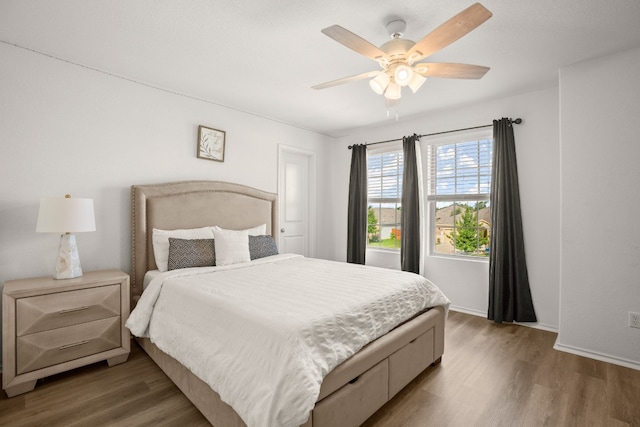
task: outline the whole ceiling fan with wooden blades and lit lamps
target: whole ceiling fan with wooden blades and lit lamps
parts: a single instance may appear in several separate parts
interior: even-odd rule
[[[409,86],[415,93],[427,77],[449,79],[479,79],[489,71],[489,67],[448,62],[418,62],[455,42],[491,18],[492,13],[475,3],[458,13],[444,24],[415,43],[401,38],[406,30],[403,20],[387,24],[392,40],[376,47],[367,40],[339,26],[322,30],[338,43],[377,61],[381,70],[369,71],[313,86],[325,89],[356,80],[372,78],[369,84],[374,92],[384,95],[387,107],[397,105],[402,95],[402,87]]]

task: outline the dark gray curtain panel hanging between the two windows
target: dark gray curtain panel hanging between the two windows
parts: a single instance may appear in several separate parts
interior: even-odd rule
[[[402,138],[402,210],[400,216],[400,263],[403,271],[420,273],[420,194],[416,141],[418,135]]]

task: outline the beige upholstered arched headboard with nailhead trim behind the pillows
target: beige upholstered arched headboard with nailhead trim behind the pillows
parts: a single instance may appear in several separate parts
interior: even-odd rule
[[[152,230],[217,225],[240,230],[267,224],[277,241],[277,196],[221,181],[131,186],[131,298],[142,294],[144,274],[156,269]]]

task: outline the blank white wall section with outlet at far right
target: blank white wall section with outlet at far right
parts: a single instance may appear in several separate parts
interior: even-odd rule
[[[640,369],[640,49],[560,72],[557,348]]]

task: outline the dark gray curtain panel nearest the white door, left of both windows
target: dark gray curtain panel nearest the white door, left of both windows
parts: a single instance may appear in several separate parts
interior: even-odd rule
[[[367,146],[351,147],[347,262],[364,264],[367,252]]]

